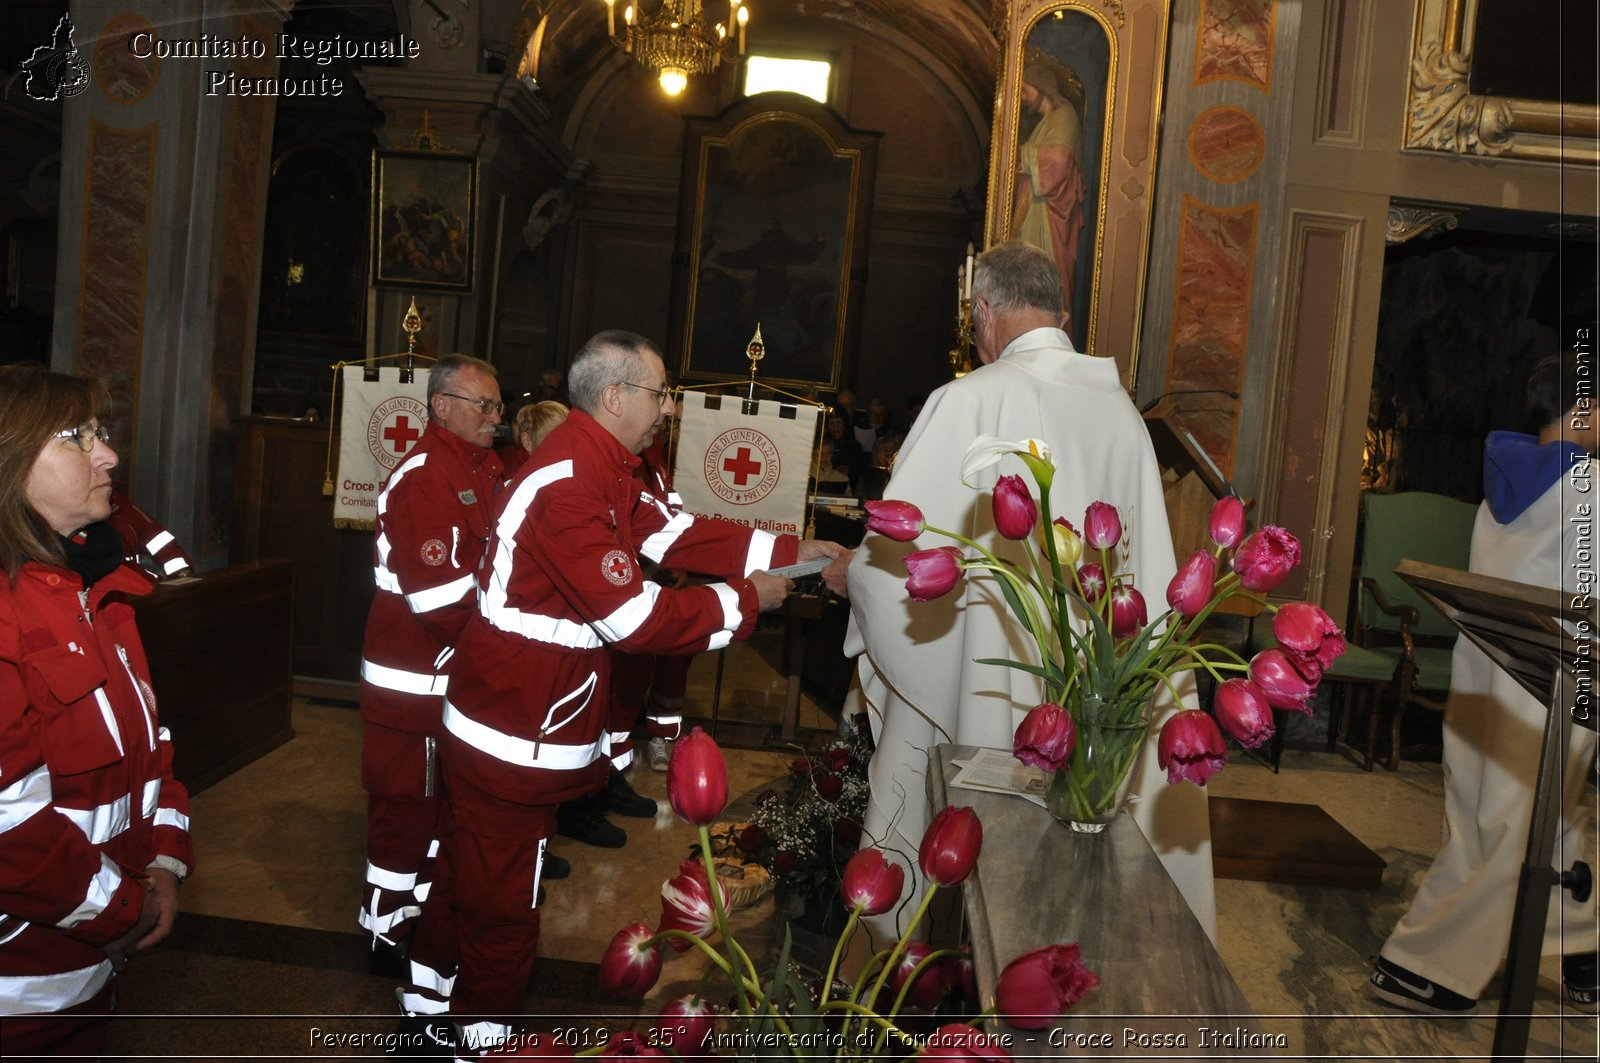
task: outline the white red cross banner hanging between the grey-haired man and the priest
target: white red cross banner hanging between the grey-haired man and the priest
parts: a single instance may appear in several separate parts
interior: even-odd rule
[[[806,482],[816,447],[816,407],[683,392],[674,487],[693,514],[728,517],[763,532],[805,532]]]

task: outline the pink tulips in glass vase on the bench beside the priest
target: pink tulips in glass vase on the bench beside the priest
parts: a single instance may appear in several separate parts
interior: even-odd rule
[[[981,435],[962,459],[962,482],[971,487],[974,474],[1008,455],[1022,459],[1038,501],[1021,475],[1002,475],[992,491],[994,523],[1008,540],[1037,538],[1026,565],[955,532],[928,527],[909,501],[867,503],[867,528],[901,543],[930,532],[960,544],[906,557],[906,591],[914,600],[949,594],[965,572],[995,578],[1038,647],[1038,663],[979,663],[1022,669],[1042,680],[1045,700],[1018,727],[1013,752],[1050,773],[1046,804],[1058,818],[1085,832],[1104,829],[1126,797],[1149,738],[1150,701],[1163,688],[1178,700],[1182,672],[1205,671],[1218,680],[1216,719],[1187,709],[1163,724],[1157,756],[1170,783],[1203,786],[1221,770],[1227,754],[1218,720],[1240,744],[1256,748],[1274,733],[1272,709],[1312,712],[1310,698],[1323,671],[1344,653],[1344,636],[1315,605],[1277,607],[1264,597],[1299,564],[1293,535],[1278,527],[1246,535],[1243,503],[1219,499],[1208,523],[1211,548],[1179,565],[1166,586],[1168,608],[1150,620],[1118,509],[1106,501],[1090,504],[1082,532],[1051,517],[1056,469],[1042,440]],[[1206,620],[1229,599],[1272,612],[1278,647],[1246,661],[1227,647],[1202,642]]]

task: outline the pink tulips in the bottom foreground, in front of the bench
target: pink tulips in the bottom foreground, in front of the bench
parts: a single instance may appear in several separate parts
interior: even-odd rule
[[[955,986],[976,999],[973,967],[962,951],[934,949],[914,938],[941,889],[971,874],[982,847],[982,824],[971,808],[941,810],[928,824],[917,863],[928,879],[915,917],[890,948],[872,956],[846,980],[840,972],[845,948],[862,916],[888,911],[899,901],[906,871],[882,850],[862,848],[845,864],[840,897],[850,916],[816,989],[792,973],[789,937],[771,975],[763,977],[728,929],[728,906],[710,863],[709,824],[728,799],[726,765],[717,743],[694,728],[672,751],[667,796],[674,812],[699,828],[699,863],[685,861],[661,887],[661,921],[622,927],[600,961],[600,986],[622,999],[642,999],[661,977],[664,949],[698,949],[707,957],[707,977],[730,983],[728,1009],[696,991],[669,1001],[648,1033],[613,1036],[578,1055],[650,1055],[678,1060],[717,1058],[728,1049],[739,1058],[797,1060],[920,1058],[1006,1060],[1005,1049],[981,1028],[998,1015],[1021,1029],[1043,1029],[1099,985],[1075,945],[1050,945],[1019,956],[1002,972],[995,1007],[971,1021],[931,1017]],[[918,1021],[920,1020],[920,1021]],[[523,1042],[523,1052],[538,1045]]]

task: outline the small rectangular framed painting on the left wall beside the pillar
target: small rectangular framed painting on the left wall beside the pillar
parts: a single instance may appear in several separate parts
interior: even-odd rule
[[[478,160],[373,152],[373,285],[472,291]]]

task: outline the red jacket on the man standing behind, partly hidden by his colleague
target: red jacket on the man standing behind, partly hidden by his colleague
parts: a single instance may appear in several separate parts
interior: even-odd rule
[[[378,495],[378,594],[362,647],[362,719],[438,730],[442,656],[477,604],[501,459],[432,421]]]

